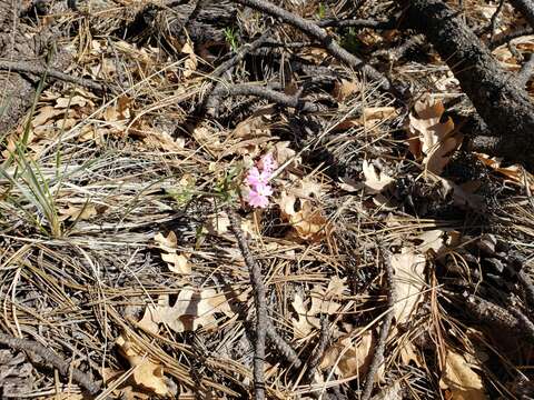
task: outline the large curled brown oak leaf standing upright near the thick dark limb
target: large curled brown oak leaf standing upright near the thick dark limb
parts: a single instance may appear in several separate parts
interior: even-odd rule
[[[462,143],[461,134],[454,134],[454,122],[447,118],[439,122],[445,108],[439,100],[429,96],[418,100],[415,114],[409,114],[409,151],[416,157],[423,156],[427,170],[441,174],[451,159],[451,153]]]

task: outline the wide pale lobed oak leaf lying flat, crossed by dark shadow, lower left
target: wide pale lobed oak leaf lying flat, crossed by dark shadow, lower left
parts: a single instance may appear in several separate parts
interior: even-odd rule
[[[214,316],[216,312],[234,316],[224,294],[214,289],[196,290],[186,287],[180,290],[172,306],[169,296],[160,296],[157,304],[147,307],[138,324],[155,333],[160,323],[175,332],[195,331],[200,327],[214,329],[217,322]]]

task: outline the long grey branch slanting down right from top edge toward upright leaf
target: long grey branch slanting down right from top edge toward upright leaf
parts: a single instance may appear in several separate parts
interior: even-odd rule
[[[309,37],[317,40],[333,57],[345,62],[349,67],[362,70],[367,77],[376,80],[380,83],[380,87],[385,90],[390,89],[390,83],[386,77],[378,72],[373,67],[366,64],[363,60],[352,54],[344,48],[342,48],[328,33],[319,28],[316,23],[305,20],[283,8],[275,6],[266,0],[234,0],[237,3],[250,7],[255,10],[263,11],[271,17],[279,18],[286,23],[289,23]]]

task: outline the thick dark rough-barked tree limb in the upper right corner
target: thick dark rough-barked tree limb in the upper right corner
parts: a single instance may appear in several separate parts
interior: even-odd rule
[[[534,104],[514,77],[504,71],[490,50],[439,0],[404,0],[407,27],[424,33],[448,64],[463,91],[495,134],[484,144],[493,156],[524,162],[534,169]]]

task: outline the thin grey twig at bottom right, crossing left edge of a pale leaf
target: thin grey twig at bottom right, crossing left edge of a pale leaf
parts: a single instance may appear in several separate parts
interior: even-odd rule
[[[370,361],[369,369],[367,371],[367,377],[365,379],[365,387],[362,393],[362,400],[369,400],[373,392],[373,386],[375,383],[375,374],[378,370],[378,367],[384,362],[384,349],[386,347],[386,340],[389,334],[389,329],[392,328],[393,321],[393,306],[395,303],[395,288],[393,286],[393,266],[389,262],[389,259],[386,257],[384,264],[386,266],[386,288],[387,288],[387,313],[384,317],[384,322],[382,323],[380,334],[375,347],[375,353],[373,354],[373,360]]]

